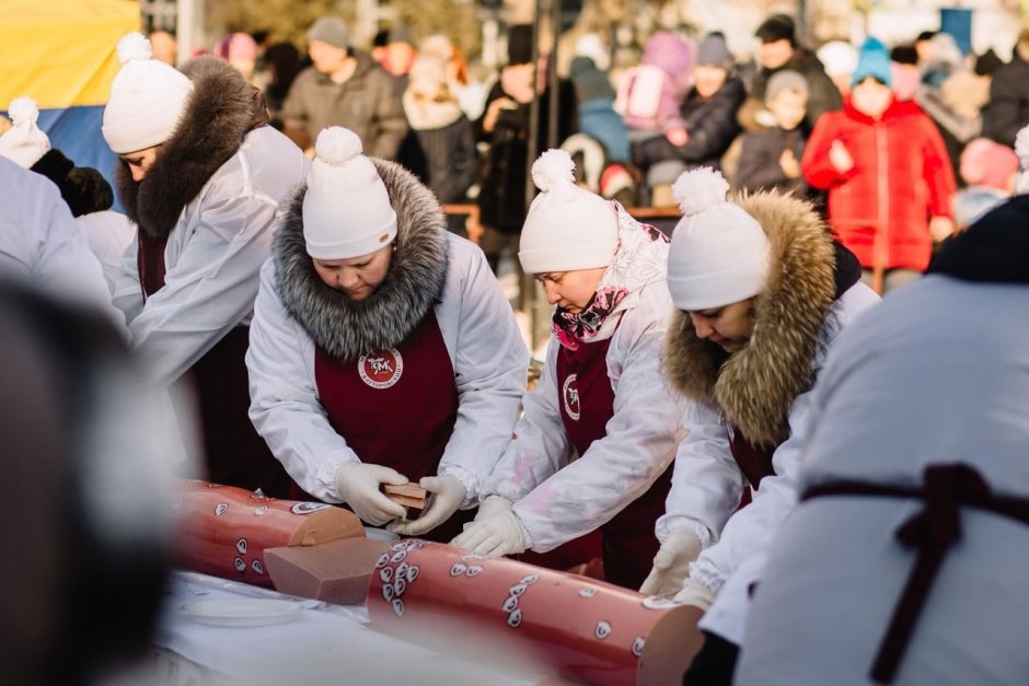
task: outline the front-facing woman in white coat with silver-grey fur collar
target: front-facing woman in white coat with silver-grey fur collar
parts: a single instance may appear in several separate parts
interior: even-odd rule
[[[428,188],[348,129],[315,149],[261,274],[251,417],[297,493],[449,540],[510,440],[525,346],[482,251],[447,231]],[[408,480],[431,493],[409,522],[379,492]]]

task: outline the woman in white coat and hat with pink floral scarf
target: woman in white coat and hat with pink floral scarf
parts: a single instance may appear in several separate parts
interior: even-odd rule
[[[575,186],[574,168],[563,150],[532,167],[543,193],[519,259],[557,305],[554,335],[488,499],[453,544],[490,556],[547,553],[599,530],[605,578],[636,589],[657,550],[654,523],[682,438],[683,406],[659,354],[671,312],[668,239]]]

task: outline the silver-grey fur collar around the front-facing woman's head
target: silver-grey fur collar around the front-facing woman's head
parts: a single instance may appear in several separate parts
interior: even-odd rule
[[[447,219],[436,196],[401,165],[370,159],[396,211],[396,251],[385,280],[368,299],[349,300],[314,270],[303,239],[307,185],[288,201],[275,236],[282,305],[319,347],[343,360],[400,346],[439,301],[447,281]]]

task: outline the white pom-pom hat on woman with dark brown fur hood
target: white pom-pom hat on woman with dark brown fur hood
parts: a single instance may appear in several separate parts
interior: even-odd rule
[[[118,40],[122,70],[104,107],[104,138],[118,154],[163,143],[175,131],[193,82],[171,65],[151,59],[150,40],[130,33]]]

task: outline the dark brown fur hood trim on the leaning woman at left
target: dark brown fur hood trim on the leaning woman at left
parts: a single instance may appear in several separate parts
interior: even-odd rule
[[[246,132],[268,123],[261,91],[223,59],[197,57],[182,71],[193,81],[193,93],[147,176],[132,181],[120,161],[115,171],[125,213],[154,237],[167,237],[183,208],[239,151]]]

